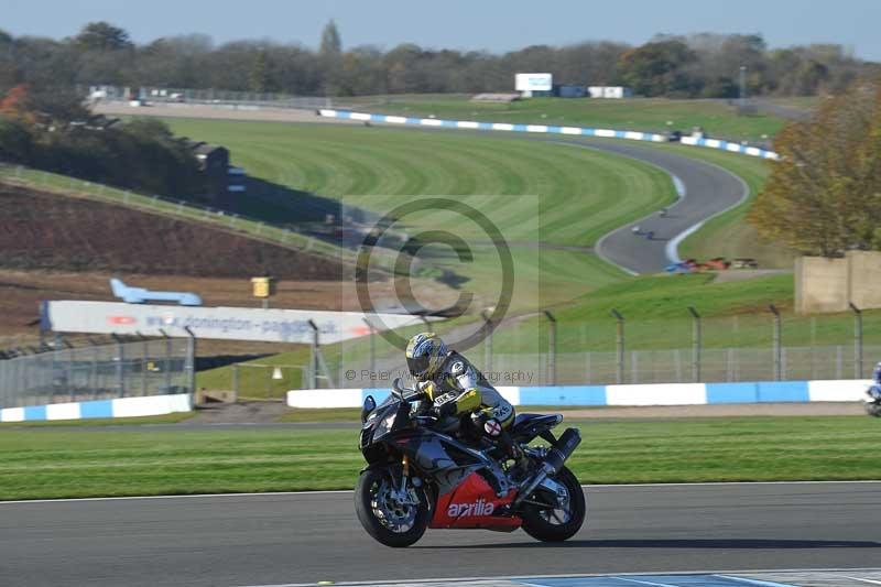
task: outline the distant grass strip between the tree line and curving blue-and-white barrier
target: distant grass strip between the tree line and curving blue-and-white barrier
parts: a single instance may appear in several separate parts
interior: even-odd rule
[[[785,120],[773,115],[738,116],[724,100],[621,100],[532,98],[511,104],[472,102],[465,97],[429,100],[382,100],[356,108],[409,117],[479,120],[533,124],[563,124],[618,130],[690,132],[703,127],[711,137],[760,140],[773,137]]]

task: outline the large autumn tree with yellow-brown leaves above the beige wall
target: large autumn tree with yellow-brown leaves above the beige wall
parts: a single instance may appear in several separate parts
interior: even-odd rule
[[[781,155],[749,218],[805,254],[881,250],[881,78],[822,101],[774,139]]]

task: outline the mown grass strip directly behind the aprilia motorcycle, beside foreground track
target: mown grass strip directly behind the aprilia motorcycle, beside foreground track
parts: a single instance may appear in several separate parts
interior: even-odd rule
[[[879,479],[879,422],[743,417],[596,422],[569,460],[586,483]],[[0,499],[348,489],[357,428],[0,431]]]

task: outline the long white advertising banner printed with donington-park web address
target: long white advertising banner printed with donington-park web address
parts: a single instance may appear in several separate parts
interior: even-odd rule
[[[95,333],[144,336],[312,343],[313,320],[323,345],[370,334],[363,318],[378,330],[420,324],[409,314],[362,314],[312,309],[262,309],[249,307],[187,307],[124,304],[119,302],[47,302],[44,327],[56,333]]]

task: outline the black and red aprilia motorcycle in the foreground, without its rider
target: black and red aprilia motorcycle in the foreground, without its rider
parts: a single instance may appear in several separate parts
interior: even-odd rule
[[[400,380],[379,406],[372,396],[361,412],[359,448],[368,463],[355,490],[355,510],[368,534],[387,546],[414,544],[427,528],[523,528],[545,542],[564,541],[581,528],[585,496],[565,460],[581,442],[577,428],[559,438],[551,428],[563,416],[520,414],[511,437],[529,465],[510,468],[488,439],[472,447],[420,415],[424,393]],[[527,446],[541,437],[551,446]]]

